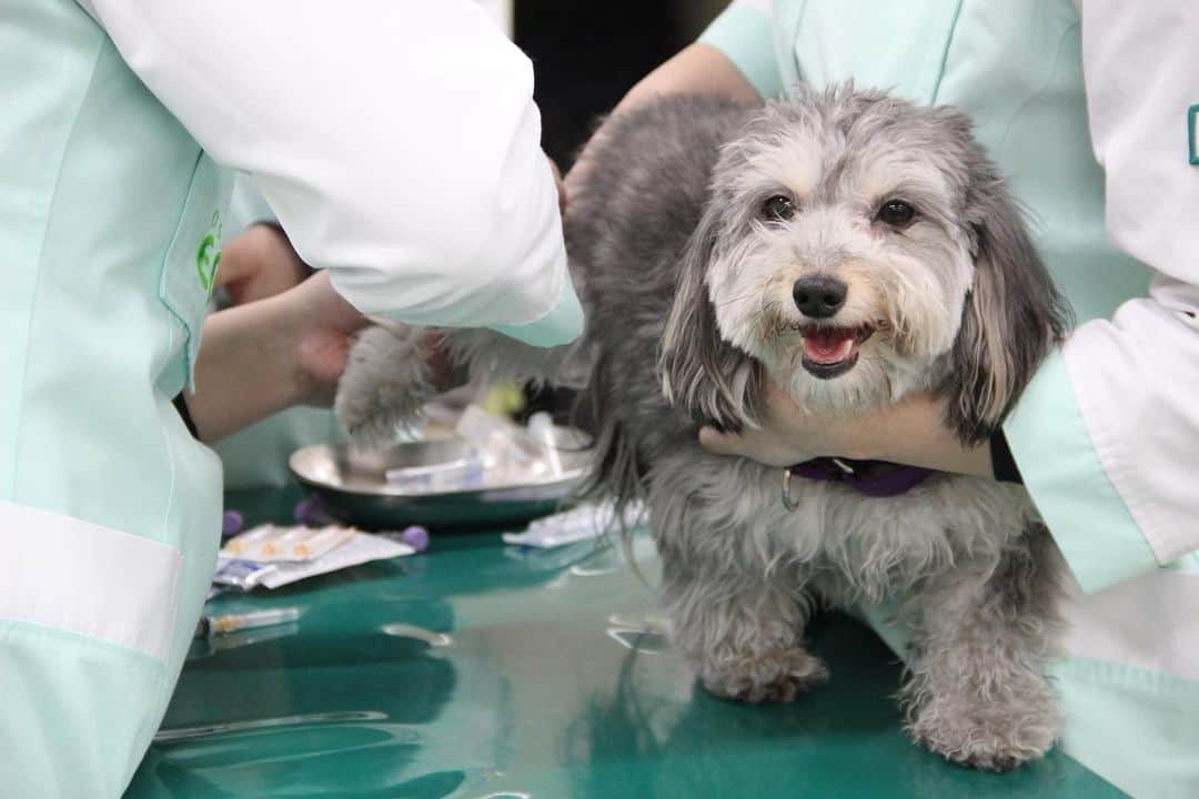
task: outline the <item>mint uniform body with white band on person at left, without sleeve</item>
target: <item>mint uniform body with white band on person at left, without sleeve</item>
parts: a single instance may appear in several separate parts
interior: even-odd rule
[[[78,6],[4,16],[0,785],[115,797],[216,557],[221,465],[171,398],[199,345],[213,259],[198,254],[230,176]]]

